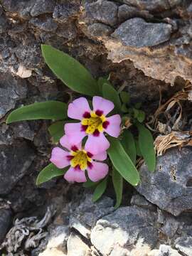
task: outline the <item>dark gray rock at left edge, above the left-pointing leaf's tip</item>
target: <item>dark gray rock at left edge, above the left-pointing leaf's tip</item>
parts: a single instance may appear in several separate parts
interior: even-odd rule
[[[16,100],[26,97],[26,83],[16,80],[10,73],[0,73],[0,118],[16,105]]]

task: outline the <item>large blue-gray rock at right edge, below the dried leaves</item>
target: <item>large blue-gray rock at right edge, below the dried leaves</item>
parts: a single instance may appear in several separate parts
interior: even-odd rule
[[[141,182],[136,187],[148,201],[173,215],[192,209],[192,149],[171,149],[159,156],[156,171],[151,173],[144,164]]]

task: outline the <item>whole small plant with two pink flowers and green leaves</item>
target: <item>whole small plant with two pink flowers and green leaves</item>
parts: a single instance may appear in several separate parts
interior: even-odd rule
[[[92,200],[97,201],[111,176],[117,208],[122,201],[123,180],[132,186],[139,183],[137,156],[144,158],[149,171],[156,166],[154,140],[142,124],[145,114],[139,104],[129,105],[129,94],[118,93],[109,80],[95,80],[77,60],[52,46],[41,48],[53,73],[71,90],[87,98],[78,97],[69,105],[58,101],[36,102],[11,112],[6,123],[53,120],[48,131],[53,142],[60,142],[63,149],[53,148],[51,163],[38,175],[37,185],[63,175],[67,181],[82,182],[85,188],[95,187]]]

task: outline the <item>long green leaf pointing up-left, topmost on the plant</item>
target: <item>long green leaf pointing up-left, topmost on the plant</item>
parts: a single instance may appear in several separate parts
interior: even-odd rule
[[[41,50],[48,67],[70,89],[84,95],[100,95],[96,80],[78,60],[52,46],[41,45]]]

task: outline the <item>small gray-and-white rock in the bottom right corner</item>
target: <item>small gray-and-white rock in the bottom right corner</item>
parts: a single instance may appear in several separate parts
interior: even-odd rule
[[[192,255],[192,237],[181,237],[175,241],[176,249],[185,256]]]

